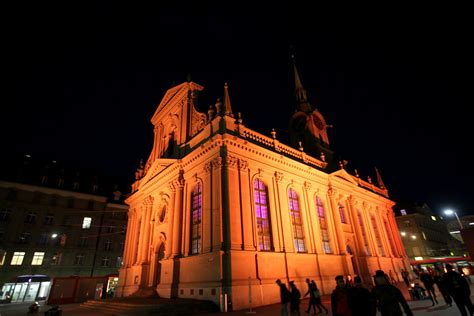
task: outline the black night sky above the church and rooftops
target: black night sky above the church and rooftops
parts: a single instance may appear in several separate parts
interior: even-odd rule
[[[376,166],[394,199],[474,214],[469,10],[180,5],[12,9],[2,159],[29,153],[131,177],[151,150],[156,106],[188,73],[205,87],[202,110],[228,81],[246,126],[283,135],[292,45],[350,172],[375,178]]]

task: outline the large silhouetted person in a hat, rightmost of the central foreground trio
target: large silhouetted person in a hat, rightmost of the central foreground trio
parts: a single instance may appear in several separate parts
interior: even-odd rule
[[[372,290],[372,295],[382,316],[402,316],[400,305],[402,305],[405,314],[413,316],[413,312],[403,297],[402,292],[396,286],[389,283],[385,272],[377,270],[374,281],[375,287]]]

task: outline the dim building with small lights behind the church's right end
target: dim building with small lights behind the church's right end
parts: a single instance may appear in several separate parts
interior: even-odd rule
[[[447,223],[426,203],[410,203],[397,208],[398,229],[412,264],[464,254],[460,242],[448,232]]]

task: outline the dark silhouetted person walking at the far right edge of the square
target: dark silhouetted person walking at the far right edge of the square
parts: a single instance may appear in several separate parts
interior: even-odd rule
[[[453,298],[454,302],[459,308],[462,316],[467,316],[466,308],[469,311],[469,315],[474,314],[474,308],[471,302],[471,289],[466,279],[463,278],[459,273],[454,271],[453,266],[450,264],[446,265],[447,272],[443,275],[443,279],[446,284],[446,289]]]

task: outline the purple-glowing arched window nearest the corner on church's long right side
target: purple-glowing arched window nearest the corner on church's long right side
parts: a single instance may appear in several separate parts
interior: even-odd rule
[[[255,195],[255,217],[257,219],[258,247],[262,251],[272,249],[272,230],[268,212],[267,187],[260,179],[253,185]]]

